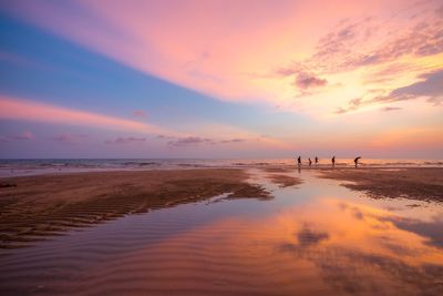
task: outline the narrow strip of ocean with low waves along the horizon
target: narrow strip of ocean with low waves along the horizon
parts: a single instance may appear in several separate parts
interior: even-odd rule
[[[0,176],[152,169],[293,166],[296,164],[296,159],[27,159],[0,160]],[[330,165],[330,159],[320,159],[317,165],[312,164],[312,167]],[[336,159],[336,166],[351,167],[353,165],[353,159]],[[443,161],[362,159],[359,165],[361,167],[443,167]],[[308,167],[307,159],[302,160],[302,166]]]

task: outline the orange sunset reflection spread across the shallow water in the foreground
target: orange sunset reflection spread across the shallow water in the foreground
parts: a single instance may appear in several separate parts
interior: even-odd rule
[[[246,287],[288,295],[442,292],[442,249],[399,227],[396,214],[334,197],[261,214],[224,217],[168,237],[101,266],[95,276],[131,266],[128,272],[155,279],[142,289],[163,290],[171,280],[175,292],[193,294]]]

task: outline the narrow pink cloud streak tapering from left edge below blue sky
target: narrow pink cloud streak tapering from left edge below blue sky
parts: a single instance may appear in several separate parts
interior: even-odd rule
[[[99,113],[0,96],[0,119],[86,125],[144,133],[172,133],[159,126]]]

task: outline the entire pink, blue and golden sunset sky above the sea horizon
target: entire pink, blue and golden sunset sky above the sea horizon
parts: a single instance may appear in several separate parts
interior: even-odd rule
[[[443,159],[439,0],[0,0],[0,159]]]

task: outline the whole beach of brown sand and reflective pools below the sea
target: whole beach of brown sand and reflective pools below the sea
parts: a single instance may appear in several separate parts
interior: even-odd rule
[[[440,167],[0,180],[2,295],[439,295]]]

